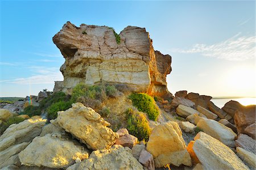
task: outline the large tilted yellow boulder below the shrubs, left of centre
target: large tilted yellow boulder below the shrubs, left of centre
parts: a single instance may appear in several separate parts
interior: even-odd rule
[[[58,112],[56,123],[93,150],[110,148],[118,138],[118,134],[107,127],[109,122],[81,103],[72,104],[72,108],[65,112]]]

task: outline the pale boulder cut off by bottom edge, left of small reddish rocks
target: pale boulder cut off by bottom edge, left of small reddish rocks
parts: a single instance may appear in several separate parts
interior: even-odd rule
[[[82,169],[143,169],[142,165],[131,154],[129,147],[114,145],[108,150],[97,150],[82,161],[76,170]]]

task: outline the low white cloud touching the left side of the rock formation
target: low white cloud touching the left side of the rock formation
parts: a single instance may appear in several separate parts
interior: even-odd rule
[[[54,81],[63,80],[63,75],[57,67],[31,66],[28,67],[35,75],[26,78],[16,78],[10,80],[0,80],[5,83],[15,84],[53,84]]]

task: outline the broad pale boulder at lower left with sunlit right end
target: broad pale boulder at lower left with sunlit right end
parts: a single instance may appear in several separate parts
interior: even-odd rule
[[[88,156],[88,151],[77,142],[50,135],[36,137],[19,153],[22,165],[49,168],[66,168],[75,163],[77,158],[84,160]]]

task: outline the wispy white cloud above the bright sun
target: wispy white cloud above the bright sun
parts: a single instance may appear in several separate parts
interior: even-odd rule
[[[243,61],[255,58],[255,36],[240,36],[240,33],[228,40],[213,45],[195,44],[189,49],[171,49],[176,53],[201,53],[203,56]]]

